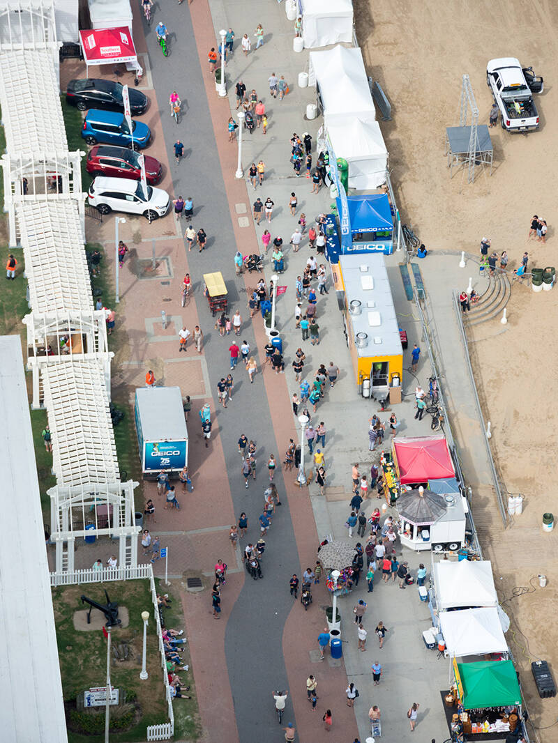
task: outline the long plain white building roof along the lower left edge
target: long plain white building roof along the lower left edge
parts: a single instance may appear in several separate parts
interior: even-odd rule
[[[0,337],[0,415],[1,739],[63,743],[62,681],[18,335]]]

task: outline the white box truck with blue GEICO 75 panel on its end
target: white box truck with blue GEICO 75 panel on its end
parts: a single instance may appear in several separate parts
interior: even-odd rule
[[[188,463],[188,430],[180,387],[138,387],[135,429],[144,479],[176,476]]]

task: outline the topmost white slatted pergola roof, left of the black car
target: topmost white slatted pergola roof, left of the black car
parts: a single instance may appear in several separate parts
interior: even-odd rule
[[[0,106],[8,152],[67,152],[52,53],[0,53]]]

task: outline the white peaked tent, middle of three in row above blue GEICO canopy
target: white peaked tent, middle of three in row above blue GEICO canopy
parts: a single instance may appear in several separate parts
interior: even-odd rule
[[[333,117],[376,118],[362,52],[359,48],[336,46],[328,51],[310,52],[310,81],[315,82],[324,105],[327,126]]]

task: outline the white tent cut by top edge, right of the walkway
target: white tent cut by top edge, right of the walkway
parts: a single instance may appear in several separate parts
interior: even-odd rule
[[[350,42],[353,0],[301,0],[302,38],[307,49]]]

